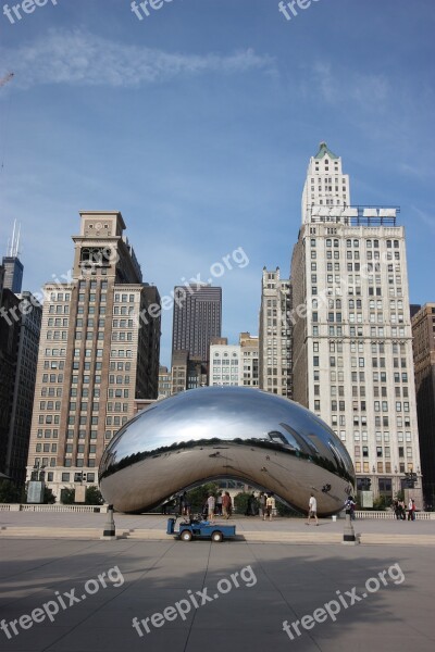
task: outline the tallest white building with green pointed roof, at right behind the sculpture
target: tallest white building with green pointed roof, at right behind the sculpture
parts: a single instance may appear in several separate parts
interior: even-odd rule
[[[351,206],[341,160],[310,160],[291,261],[294,398],[331,424],[358,486],[394,497],[419,476],[405,231],[398,209]]]

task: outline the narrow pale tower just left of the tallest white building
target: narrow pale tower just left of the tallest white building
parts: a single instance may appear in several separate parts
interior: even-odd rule
[[[259,328],[260,388],[291,398],[293,324],[291,286],[279,267],[263,267]]]

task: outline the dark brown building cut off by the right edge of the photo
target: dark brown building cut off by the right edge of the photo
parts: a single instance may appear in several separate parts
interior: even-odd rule
[[[435,506],[435,303],[426,303],[412,317],[417,415],[423,493]]]

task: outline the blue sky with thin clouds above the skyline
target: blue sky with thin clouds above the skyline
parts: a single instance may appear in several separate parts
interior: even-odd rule
[[[15,4],[11,2],[10,4]],[[1,12],[0,8],[0,12]],[[223,335],[258,333],[263,265],[287,276],[309,158],[343,156],[352,203],[398,204],[411,302],[433,301],[433,0],[58,0],[0,13],[0,251],[22,223],[24,287],[66,274],[79,210],[120,210],[167,294],[243,248]],[[170,363],[172,313],[163,313]]]

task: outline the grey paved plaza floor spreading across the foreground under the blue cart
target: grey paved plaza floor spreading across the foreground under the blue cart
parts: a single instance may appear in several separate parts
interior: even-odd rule
[[[51,531],[24,538],[2,529],[2,651],[434,650],[433,544],[413,544],[435,535],[434,522],[356,522],[356,531],[386,540],[389,532],[396,544],[355,547],[324,542],[344,527],[326,519],[310,529],[301,519],[239,518],[237,531],[263,540],[223,543],[55,536],[104,522],[103,514],[0,513],[2,528],[36,531],[44,523]],[[115,522],[116,532],[158,532],[165,517],[115,514]],[[412,534],[399,541],[405,529]],[[306,530],[318,540],[266,540]]]

